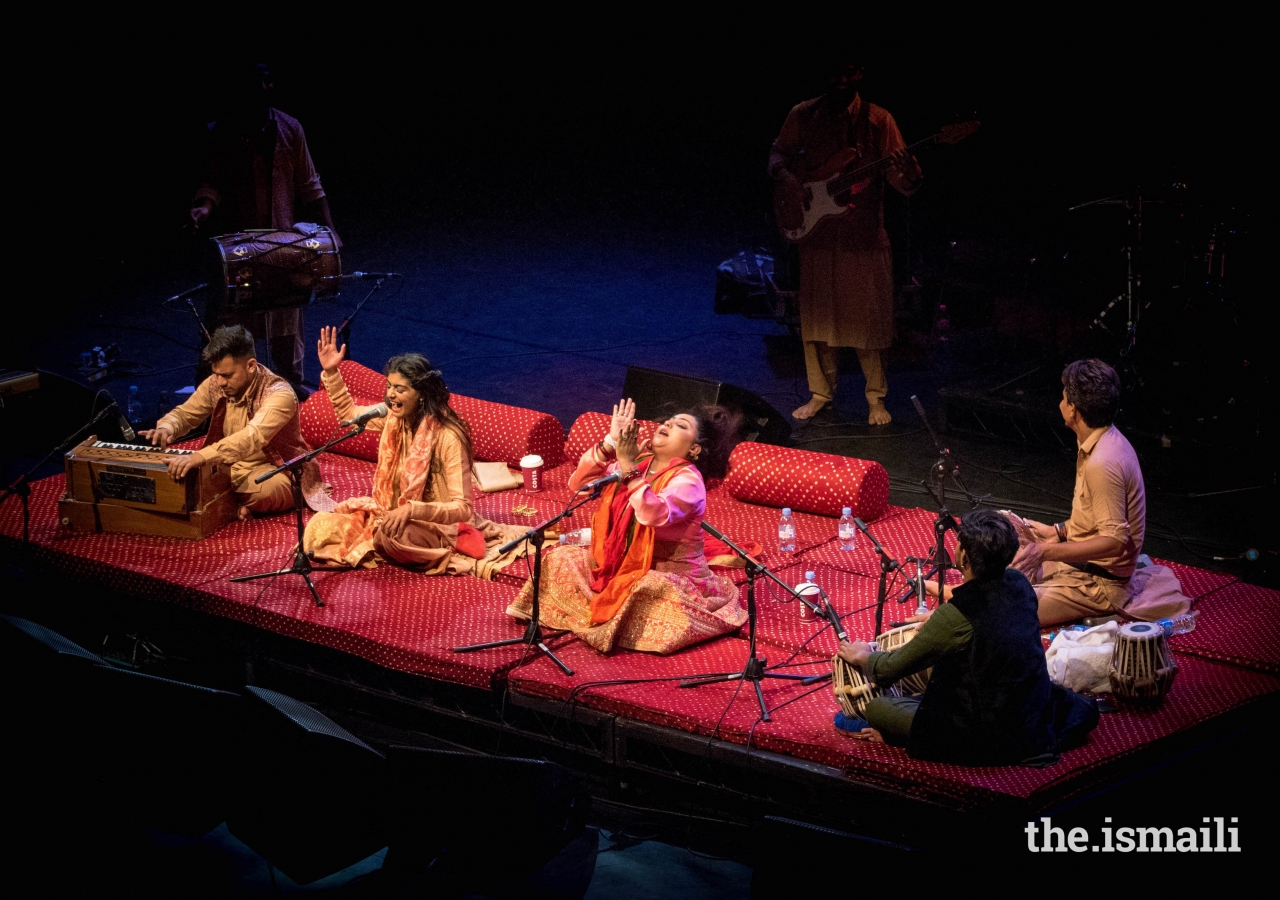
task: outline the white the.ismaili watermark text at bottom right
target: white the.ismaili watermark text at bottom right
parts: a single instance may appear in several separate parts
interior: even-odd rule
[[[1112,827],[1107,816],[1101,841],[1079,826],[1068,831],[1055,826],[1047,816],[1028,822],[1027,849],[1032,853],[1242,853],[1239,817],[1204,817],[1199,828],[1169,826]]]

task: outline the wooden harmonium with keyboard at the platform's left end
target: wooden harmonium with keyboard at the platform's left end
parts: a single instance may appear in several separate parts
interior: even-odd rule
[[[169,460],[191,452],[90,437],[67,453],[59,521],[72,531],[207,538],[236,515],[230,466],[200,466],[174,481]]]

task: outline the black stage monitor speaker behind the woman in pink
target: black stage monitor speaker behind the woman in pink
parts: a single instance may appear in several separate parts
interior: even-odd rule
[[[622,396],[636,402],[639,419],[660,422],[691,406],[710,403],[742,414],[740,437],[744,440],[786,444],[791,439],[791,424],[781,412],[759,394],[735,384],[643,366],[627,366]]]

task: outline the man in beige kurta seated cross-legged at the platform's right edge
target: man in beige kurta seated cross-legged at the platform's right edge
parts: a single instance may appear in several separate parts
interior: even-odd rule
[[[1142,565],[1147,494],[1138,454],[1114,425],[1120,376],[1101,360],[1073,362],[1062,371],[1059,408],[1079,444],[1071,517],[1057,525],[1018,520],[1027,543],[1012,563],[1036,588],[1041,625],[1187,612],[1176,576]]]

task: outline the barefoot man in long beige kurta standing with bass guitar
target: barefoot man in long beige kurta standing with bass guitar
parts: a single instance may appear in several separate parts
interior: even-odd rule
[[[868,421],[890,422],[884,351],[893,343],[893,257],[884,232],[884,182],[910,196],[923,175],[906,151],[893,117],[858,93],[861,65],[844,65],[831,91],[794,108],[769,154],[769,175],[803,202],[809,181],[850,147],[861,163],[893,157],[884,177],[874,175],[851,196],[851,209],[818,225],[800,242],[800,335],[812,398],[791,415],[812,419],[836,397],[838,348],[854,347],[867,376]]]

